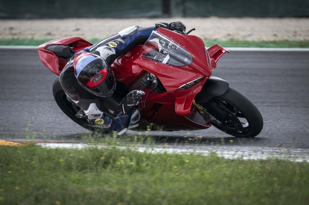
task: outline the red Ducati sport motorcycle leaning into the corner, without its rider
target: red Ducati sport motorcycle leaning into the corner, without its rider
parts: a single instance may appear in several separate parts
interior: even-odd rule
[[[60,38],[40,45],[38,52],[42,63],[59,75],[74,53],[91,45],[79,37]],[[226,52],[219,45],[206,49],[197,36],[159,28],[144,45],[114,61],[111,69],[116,91],[102,103],[114,111],[129,91],[140,89],[146,94],[139,105],[139,126],[134,129],[202,130],[213,125],[232,136],[257,136],[263,128],[259,110],[228,82],[211,76]],[[75,116],[79,108],[67,99],[59,78],[53,84],[53,94],[60,109],[74,122],[102,131]]]

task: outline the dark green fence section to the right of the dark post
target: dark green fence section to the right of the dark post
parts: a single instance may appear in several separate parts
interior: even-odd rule
[[[171,8],[183,17],[309,17],[309,0],[171,0]]]

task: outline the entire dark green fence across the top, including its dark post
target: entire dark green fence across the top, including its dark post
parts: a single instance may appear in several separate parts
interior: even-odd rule
[[[0,0],[0,18],[309,17],[309,0]]]

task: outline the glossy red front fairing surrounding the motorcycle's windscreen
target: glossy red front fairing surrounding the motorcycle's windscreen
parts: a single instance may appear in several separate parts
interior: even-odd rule
[[[180,45],[184,45],[183,48],[189,51],[193,57],[192,63],[185,66],[173,66],[157,63],[153,60],[143,58],[143,55],[140,55],[139,57],[138,54],[140,54],[140,52],[144,53],[144,51],[137,50],[138,48],[140,49],[140,47],[136,47],[126,56],[117,59],[116,63],[113,65],[114,69],[120,71],[120,73],[122,70],[130,71],[131,78],[128,78],[127,76],[123,79],[120,78],[121,82],[129,85],[127,87],[130,87],[134,81],[142,77],[143,74],[145,74],[144,71],[154,74],[159,78],[160,82],[163,84],[167,91],[167,93],[164,93],[163,95],[168,95],[170,92],[174,92],[174,96],[171,98],[171,103],[174,106],[173,109],[175,114],[178,114],[178,116],[187,116],[191,113],[192,102],[195,95],[202,90],[202,86],[211,76],[212,70],[216,64],[212,64],[212,69],[208,68],[208,59],[206,53],[207,50],[205,49],[205,43],[201,38],[196,36],[181,35],[173,31],[161,28],[159,28],[157,32],[162,33],[165,36],[172,36],[172,40],[178,42]],[[122,73],[121,76],[123,76]],[[202,80],[202,82],[197,83],[197,85],[193,86],[192,88],[184,91],[178,90],[178,88],[184,84],[201,77],[205,78]],[[158,94],[151,94],[148,98],[147,104],[150,100],[158,102],[158,99]],[[163,107],[161,109],[163,109]],[[142,112],[145,112],[143,108],[140,109]],[[173,119],[171,118],[171,120]]]

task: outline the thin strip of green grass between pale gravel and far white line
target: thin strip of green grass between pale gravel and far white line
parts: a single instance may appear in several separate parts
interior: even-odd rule
[[[38,46],[52,39],[0,39],[2,46]],[[96,43],[101,39],[88,39],[91,43]],[[222,47],[271,47],[271,48],[309,48],[309,41],[245,41],[245,40],[206,40],[207,47],[219,44]]]

